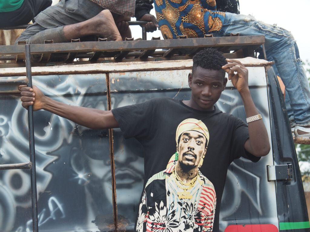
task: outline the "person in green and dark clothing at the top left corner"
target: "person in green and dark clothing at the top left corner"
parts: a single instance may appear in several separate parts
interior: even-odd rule
[[[0,1],[0,28],[28,24],[47,7],[52,0],[5,0]]]

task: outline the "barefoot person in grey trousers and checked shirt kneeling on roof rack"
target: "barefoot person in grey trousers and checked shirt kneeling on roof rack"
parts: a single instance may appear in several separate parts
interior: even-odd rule
[[[148,21],[145,25],[148,32],[157,29],[156,18],[149,14],[152,8],[152,0],[61,0],[38,14],[35,23],[17,38],[15,44],[18,41],[42,44],[45,40],[63,43],[90,35],[122,41],[128,33],[124,16]],[[125,35],[120,34],[122,31]]]

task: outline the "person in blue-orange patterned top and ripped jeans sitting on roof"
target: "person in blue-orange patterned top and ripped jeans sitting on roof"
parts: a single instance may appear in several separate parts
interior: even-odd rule
[[[215,0],[154,0],[159,29],[165,39],[264,35],[267,60],[287,91],[286,108],[295,142],[310,144],[310,88],[293,35],[250,15],[217,11]]]

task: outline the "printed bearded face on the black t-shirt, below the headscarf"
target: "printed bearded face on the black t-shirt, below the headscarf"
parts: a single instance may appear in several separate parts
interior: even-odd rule
[[[180,136],[178,161],[189,167],[198,166],[206,154],[206,137],[198,131],[185,131]]]

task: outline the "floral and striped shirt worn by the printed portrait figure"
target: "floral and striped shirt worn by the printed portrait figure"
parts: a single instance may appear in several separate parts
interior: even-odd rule
[[[175,165],[148,179],[139,205],[136,231],[212,231],[216,207],[213,184],[198,170],[193,187],[185,190],[192,198],[180,199],[184,189],[179,186]]]

